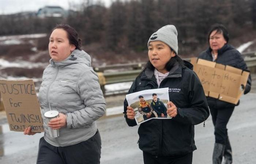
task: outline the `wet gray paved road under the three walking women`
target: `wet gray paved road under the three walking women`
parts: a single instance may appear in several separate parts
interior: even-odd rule
[[[235,108],[228,129],[233,146],[234,164],[256,163],[256,93],[243,95],[241,104]],[[142,164],[142,151],[138,144],[138,126],[128,127],[123,116],[97,121],[102,137],[102,164]],[[38,140],[43,134],[24,136],[20,132],[10,132],[3,126],[0,135],[1,164],[34,164],[37,157]],[[210,164],[214,144],[211,118],[195,126],[197,150],[193,153],[193,164]]]

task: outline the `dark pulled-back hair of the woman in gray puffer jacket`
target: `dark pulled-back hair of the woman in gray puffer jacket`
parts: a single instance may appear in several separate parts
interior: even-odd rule
[[[76,32],[76,30],[68,24],[57,24],[50,32],[50,35],[52,34],[53,30],[59,28],[67,32],[69,43],[74,44],[74,46],[76,46],[75,49],[81,50],[82,39],[78,38],[78,33]]]

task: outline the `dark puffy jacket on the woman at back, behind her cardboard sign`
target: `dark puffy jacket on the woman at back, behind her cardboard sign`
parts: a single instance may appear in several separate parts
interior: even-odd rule
[[[206,51],[201,52],[200,55],[198,56],[198,58],[212,61],[211,51],[212,51],[212,49],[209,47]],[[218,50],[218,56],[214,62],[220,63],[222,65],[229,65],[229,66],[236,67],[238,69],[249,72],[248,67],[246,66],[246,63],[245,63],[244,59],[242,58],[240,52],[237,51],[230,44],[225,44],[221,49]],[[251,82],[252,82],[252,79],[251,79],[251,74],[250,74],[247,84],[245,86],[244,94],[248,93],[251,90]],[[207,101],[208,101],[209,105],[213,105],[213,104],[217,103],[217,106],[219,108],[229,108],[229,107],[235,106],[234,104],[231,104],[229,102],[224,102],[219,99],[212,98],[212,97],[207,97]],[[239,104],[239,102],[238,102],[238,104]]]

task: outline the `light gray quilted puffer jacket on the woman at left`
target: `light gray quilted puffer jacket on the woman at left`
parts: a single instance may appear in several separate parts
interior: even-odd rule
[[[56,147],[74,145],[91,138],[97,131],[95,120],[105,113],[105,99],[91,58],[83,50],[74,50],[61,62],[50,59],[39,90],[42,117],[57,110],[67,116],[67,127],[51,138],[44,119],[45,140]]]

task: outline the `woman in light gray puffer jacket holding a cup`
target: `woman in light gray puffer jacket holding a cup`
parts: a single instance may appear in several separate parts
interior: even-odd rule
[[[105,113],[105,100],[90,56],[80,50],[81,40],[74,28],[57,25],[49,38],[50,65],[44,70],[39,101],[44,118],[38,164],[98,164],[101,138],[95,121]],[[59,117],[47,125],[44,113],[57,110]],[[48,126],[59,129],[50,137]],[[30,127],[24,134],[33,135]]]

